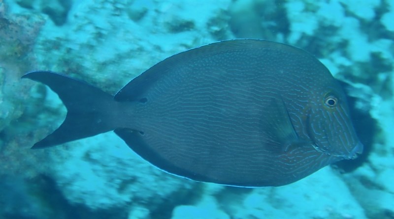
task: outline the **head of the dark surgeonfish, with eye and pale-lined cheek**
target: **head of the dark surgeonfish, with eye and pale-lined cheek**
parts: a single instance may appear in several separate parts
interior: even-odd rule
[[[339,84],[320,86],[309,102],[307,134],[313,147],[339,159],[356,159],[363,145],[356,135],[346,96]]]

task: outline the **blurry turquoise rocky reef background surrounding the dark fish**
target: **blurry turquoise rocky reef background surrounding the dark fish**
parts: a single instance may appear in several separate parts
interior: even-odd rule
[[[31,150],[66,108],[33,70],[115,94],[216,41],[283,42],[341,81],[363,154],[287,186],[167,174],[114,133]],[[394,219],[394,0],[0,0],[0,219]]]

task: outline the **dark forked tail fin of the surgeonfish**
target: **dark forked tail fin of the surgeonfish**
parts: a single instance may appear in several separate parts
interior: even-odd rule
[[[113,96],[86,82],[49,71],[31,72],[22,77],[48,85],[67,108],[62,125],[33,145],[33,149],[51,147],[68,141],[114,130],[111,119]],[[111,113],[112,112],[112,113]]]

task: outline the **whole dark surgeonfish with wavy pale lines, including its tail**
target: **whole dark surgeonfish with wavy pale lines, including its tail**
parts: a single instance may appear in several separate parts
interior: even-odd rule
[[[196,181],[282,186],[362,144],[346,97],[328,69],[295,47],[263,40],[217,42],[170,56],[111,96],[38,71],[67,108],[43,148],[114,130],[149,163]]]

